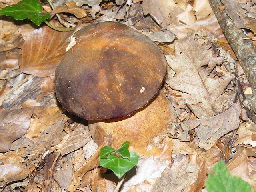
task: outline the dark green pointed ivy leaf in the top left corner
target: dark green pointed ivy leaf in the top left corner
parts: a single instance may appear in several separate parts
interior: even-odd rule
[[[23,0],[16,5],[5,7],[0,10],[0,14],[11,16],[16,20],[30,19],[36,25],[40,25],[44,20],[50,18],[49,13],[41,13],[42,6],[36,0]]]

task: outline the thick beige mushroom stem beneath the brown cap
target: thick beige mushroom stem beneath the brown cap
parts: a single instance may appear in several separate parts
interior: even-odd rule
[[[104,137],[112,133],[112,147],[118,148],[126,141],[131,146],[159,146],[170,130],[171,122],[177,122],[177,117],[164,92],[160,91],[135,114],[116,120],[88,120],[88,126],[96,144],[100,145]]]

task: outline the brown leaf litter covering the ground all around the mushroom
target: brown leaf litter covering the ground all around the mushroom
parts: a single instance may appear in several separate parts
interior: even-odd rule
[[[254,32],[251,7],[255,4],[237,1],[232,6],[241,18],[233,18],[236,25]],[[169,66],[162,90],[180,122],[170,126],[170,138],[162,148],[130,147],[140,158],[128,172],[123,191],[199,191],[207,172],[221,158],[230,159],[232,174],[256,187],[255,124],[240,119],[242,110],[233,103],[236,88],[231,79],[238,70],[238,80],[248,81],[233,52],[226,52],[230,48],[207,0],[74,0],[54,2],[54,7],[49,11],[48,4],[43,6],[56,26],[74,26],[78,20],[79,27],[94,20],[119,20],[152,38],[166,55]],[[86,123],[56,105],[54,70],[72,32],[34,28],[6,17],[0,18],[0,28],[0,187],[45,191],[51,183],[53,191],[112,191],[118,180],[98,162],[100,148],[111,144],[111,136],[97,146]],[[226,156],[232,130],[237,132]]]

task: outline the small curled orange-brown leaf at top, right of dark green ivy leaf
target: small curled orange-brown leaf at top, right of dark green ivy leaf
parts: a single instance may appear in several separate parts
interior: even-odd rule
[[[58,6],[51,12],[51,15],[56,13],[71,13],[78,19],[86,17],[87,15],[85,10],[83,8],[76,6],[74,1],[67,2],[66,5]]]

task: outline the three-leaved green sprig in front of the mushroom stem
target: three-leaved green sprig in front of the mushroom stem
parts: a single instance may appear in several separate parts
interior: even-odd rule
[[[111,169],[118,178],[132,169],[138,163],[138,154],[129,152],[130,142],[126,141],[120,148],[114,150],[105,146],[100,150],[100,166]]]

